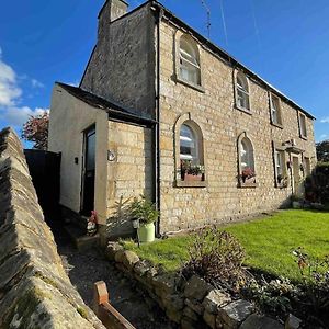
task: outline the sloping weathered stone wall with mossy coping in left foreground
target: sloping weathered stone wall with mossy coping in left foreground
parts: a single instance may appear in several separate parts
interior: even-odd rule
[[[65,273],[10,128],[0,132],[0,327],[104,328]]]

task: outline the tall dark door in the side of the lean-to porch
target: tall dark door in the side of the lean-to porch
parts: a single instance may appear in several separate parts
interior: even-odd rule
[[[81,213],[90,216],[94,204],[94,169],[95,169],[95,127],[84,132],[84,170],[83,170],[83,195]]]

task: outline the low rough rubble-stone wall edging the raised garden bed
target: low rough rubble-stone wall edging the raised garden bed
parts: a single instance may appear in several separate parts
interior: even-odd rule
[[[183,329],[284,328],[279,321],[256,314],[251,303],[232,298],[196,275],[185,282],[178,274],[164,273],[116,242],[109,242],[106,257]]]

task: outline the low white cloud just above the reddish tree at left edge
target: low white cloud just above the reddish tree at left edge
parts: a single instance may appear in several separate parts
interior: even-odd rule
[[[44,112],[48,112],[49,109],[41,109],[36,107],[32,110],[29,106],[22,106],[22,107],[7,107],[3,110],[0,110],[0,118],[4,120],[5,123],[10,126],[22,126],[30,115],[39,115]]]

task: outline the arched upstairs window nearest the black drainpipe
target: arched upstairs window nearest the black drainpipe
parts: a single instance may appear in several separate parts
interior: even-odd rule
[[[180,38],[180,78],[190,83],[201,86],[197,46],[184,35]]]

